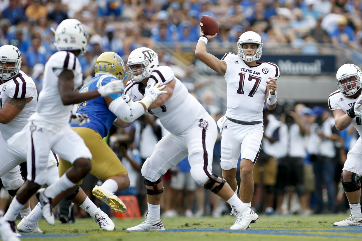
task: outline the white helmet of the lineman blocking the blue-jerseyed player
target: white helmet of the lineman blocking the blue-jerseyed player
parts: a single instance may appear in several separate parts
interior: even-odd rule
[[[133,70],[136,64],[142,65],[142,68]],[[130,76],[130,82],[140,82],[144,78],[151,76],[151,73],[159,65],[157,53],[150,48],[136,48],[130,53],[127,61],[127,75]]]

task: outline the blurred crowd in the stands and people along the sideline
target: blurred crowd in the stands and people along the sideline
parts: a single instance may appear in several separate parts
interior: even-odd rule
[[[289,43],[301,54],[319,53],[318,44],[348,46],[362,52],[360,0],[0,0],[0,13],[0,44],[20,49],[21,68],[34,79],[38,91],[44,65],[56,51],[51,28],[66,18],[77,18],[90,33],[89,51],[79,58],[85,80],[94,75],[94,59],[102,52],[114,51],[126,62],[135,48],[149,47],[158,52],[161,65],[171,66],[176,77],[196,93],[215,120],[223,115],[220,100],[202,88],[205,83],[190,78],[192,64],[186,63],[189,68],[182,69],[164,50],[168,46],[182,51],[177,43],[195,45],[202,15],[218,21],[220,33],[212,42],[219,48],[236,51],[237,38],[251,30],[261,35],[265,46]],[[192,62],[193,48],[187,51],[191,52]],[[265,138],[254,167],[252,206],[258,213],[309,215],[349,209],[340,175],[346,153],[358,134],[353,127],[338,132],[327,108],[280,101],[275,111],[264,113]],[[127,168],[131,181],[130,188],[120,194],[136,195],[143,214],[146,189],[140,167],[165,130],[154,116],[144,115],[129,128],[113,129],[110,134],[109,144]],[[222,176],[220,138],[213,162],[213,172]],[[83,189],[91,195],[91,188],[99,180],[87,178]],[[168,189],[161,202],[164,217],[220,216],[228,212],[219,197],[192,180],[187,159],[171,168],[163,181]],[[4,191],[0,191],[0,198],[6,198]],[[6,205],[0,203],[4,210]],[[78,217],[86,215],[81,211],[76,211]]]

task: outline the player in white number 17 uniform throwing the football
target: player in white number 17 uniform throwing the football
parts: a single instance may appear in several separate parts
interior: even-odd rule
[[[224,76],[227,83],[227,111],[219,119],[221,139],[221,167],[223,178],[237,192],[236,166],[241,154],[240,198],[243,209],[240,215],[243,229],[258,215],[251,210],[254,191],[253,168],[258,157],[263,136],[264,101],[271,110],[277,105],[277,79],[279,68],[269,62],[257,62],[262,55],[263,41],[259,34],[248,31],[237,41],[237,54],[226,53],[219,60],[206,51],[206,44],[215,35],[205,36],[200,31],[195,55],[211,69]],[[232,212],[238,213],[237,210]]]

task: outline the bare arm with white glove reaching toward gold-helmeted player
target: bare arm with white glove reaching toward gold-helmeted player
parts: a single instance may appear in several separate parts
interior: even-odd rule
[[[79,93],[77,91],[73,91],[73,78],[73,72],[68,69],[64,69],[59,75],[58,89],[60,98],[62,99],[62,102],[65,106],[70,104],[78,104],[98,96],[106,96],[114,92],[122,91],[123,89],[122,81],[111,81],[106,85],[101,86],[97,90]]]

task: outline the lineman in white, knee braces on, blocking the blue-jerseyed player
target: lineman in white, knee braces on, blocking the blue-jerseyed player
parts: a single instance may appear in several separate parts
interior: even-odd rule
[[[230,229],[246,229],[254,220],[241,218],[243,209],[240,199],[226,181],[211,173],[212,154],[217,128],[212,117],[189,94],[169,66],[158,66],[157,54],[150,48],[137,48],[131,52],[127,68],[130,81],[125,94],[130,102],[144,98],[145,92],[155,82],[167,84],[167,94],[161,95],[148,108],[159,117],[169,131],[155,146],[150,158],[142,166],[142,176],[147,189],[148,214],[146,220],[128,231],[165,230],[160,220],[160,199],[163,193],[161,175],[187,155],[191,176],[206,189],[218,194],[236,210],[236,221]],[[251,210],[250,210],[251,211]],[[257,219],[257,215],[255,220]]]

